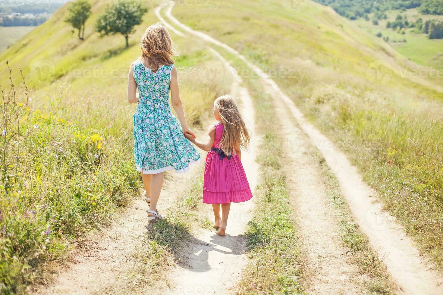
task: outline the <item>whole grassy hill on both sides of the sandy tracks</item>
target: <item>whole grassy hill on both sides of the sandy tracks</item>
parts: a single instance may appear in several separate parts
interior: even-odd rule
[[[21,118],[23,175],[13,192],[0,195],[0,277],[7,291],[23,291],[41,278],[41,265],[61,257],[72,241],[137,195],[135,106],[126,101],[126,79],[139,56],[140,36],[158,19],[149,7],[126,49],[122,36],[100,38],[93,31],[97,15],[110,3],[91,1],[85,41],[63,22],[65,5],[0,54],[2,88],[8,89],[4,61],[9,60],[16,85],[18,67],[23,69],[32,98]],[[348,152],[385,208],[441,268],[442,79],[331,8],[309,2],[293,13],[285,3],[225,0],[218,9],[177,5],[173,12],[274,77]],[[213,98],[227,92],[229,77],[217,85],[198,79],[194,65],[214,57],[204,44],[173,38],[179,44],[176,65],[185,111],[198,125]],[[430,75],[420,77],[419,70]],[[23,91],[18,93],[23,101]],[[14,153],[8,155],[13,169]]]

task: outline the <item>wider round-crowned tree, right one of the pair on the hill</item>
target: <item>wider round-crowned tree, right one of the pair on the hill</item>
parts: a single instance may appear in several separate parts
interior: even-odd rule
[[[136,1],[118,1],[114,5],[108,5],[103,14],[97,18],[95,31],[99,32],[101,37],[109,34],[122,34],[126,39],[126,47],[129,46],[129,34],[134,31],[134,27],[141,23],[143,15],[148,12]]]

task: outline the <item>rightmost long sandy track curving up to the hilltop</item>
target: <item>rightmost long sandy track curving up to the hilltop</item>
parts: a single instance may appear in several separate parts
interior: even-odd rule
[[[381,211],[380,203],[374,203],[375,200],[371,196],[376,193],[363,182],[358,170],[350,164],[346,156],[319,130],[307,122],[294,102],[266,73],[232,47],[180,23],[171,15],[172,7],[173,4],[168,6],[166,15],[173,23],[184,31],[235,54],[259,75],[268,93],[278,96],[285,107],[290,108],[303,132],[311,138],[338,178],[343,195],[356,222],[361,230],[368,235],[369,241],[377,252],[385,257],[384,262],[388,271],[398,282],[404,294],[443,294],[442,277],[431,269],[424,257],[420,256],[411,238],[404,233],[403,228],[395,222],[394,218]]]

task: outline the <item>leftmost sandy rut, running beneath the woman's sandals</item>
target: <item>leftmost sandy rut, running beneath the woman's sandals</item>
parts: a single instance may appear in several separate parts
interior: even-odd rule
[[[203,162],[197,164],[203,165]],[[190,172],[177,174],[167,172],[159,208],[170,207],[176,199],[182,198],[200,169],[194,165]],[[98,292],[116,281],[120,270],[133,264],[133,251],[144,241],[148,231],[148,205],[141,198],[134,200],[116,221],[98,233],[89,234],[82,252],[73,255],[73,261],[66,265],[48,287],[41,287],[38,294],[90,294]],[[167,213],[168,210],[162,210]],[[152,227],[151,227],[152,228]]]

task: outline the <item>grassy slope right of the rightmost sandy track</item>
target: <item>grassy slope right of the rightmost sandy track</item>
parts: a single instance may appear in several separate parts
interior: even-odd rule
[[[441,78],[315,4],[294,14],[278,1],[227,0],[216,11],[177,6],[173,14],[277,73],[280,88],[347,152],[385,209],[443,269]],[[377,86],[371,63],[380,59],[392,77]]]

